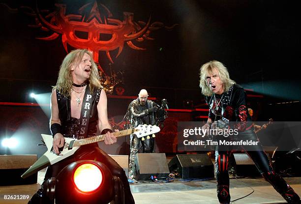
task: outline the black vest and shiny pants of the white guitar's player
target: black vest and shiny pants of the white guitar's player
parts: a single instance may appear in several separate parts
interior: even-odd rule
[[[92,102],[91,102],[91,111],[90,111],[90,121],[88,124],[88,133],[89,136],[95,136],[96,134],[96,124],[98,120],[97,114],[97,104],[100,97],[100,88],[92,93]],[[57,90],[57,101],[59,107],[59,117],[61,122],[61,132],[64,137],[79,139],[80,136],[80,119],[71,117],[71,98],[65,97]],[[92,143],[89,145],[81,146],[73,155],[61,160],[58,163],[55,163],[47,168],[46,175],[44,178],[44,183],[47,179],[51,177],[56,177],[60,171],[70,163],[79,160],[95,160],[106,165],[112,175],[120,177],[123,187],[124,187],[124,203],[125,204],[134,204],[134,198],[131,194],[127,176],[125,175],[123,169],[120,165],[110,157],[106,152],[101,150],[97,143]],[[68,193],[68,192],[66,192]],[[43,184],[42,188],[39,189],[31,198],[29,204],[53,204],[53,201],[50,201],[43,193]]]

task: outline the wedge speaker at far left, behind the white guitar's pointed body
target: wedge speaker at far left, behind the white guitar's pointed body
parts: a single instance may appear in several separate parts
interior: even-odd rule
[[[37,183],[37,173],[21,178],[36,160],[37,155],[0,155],[0,186]]]

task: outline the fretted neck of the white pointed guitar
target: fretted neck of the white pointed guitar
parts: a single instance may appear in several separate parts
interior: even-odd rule
[[[119,132],[114,132],[113,134],[114,134],[115,137],[118,138],[118,137],[130,135],[132,133],[134,133],[133,128],[132,129],[127,129],[127,130],[122,130],[122,131],[119,131]],[[91,143],[97,143],[97,142],[104,141],[105,136],[106,136],[106,134],[103,134],[103,135],[97,135],[97,136],[94,136],[94,137],[89,137],[89,138],[76,140],[73,143],[73,147],[74,146],[88,145],[88,144],[91,144]]]

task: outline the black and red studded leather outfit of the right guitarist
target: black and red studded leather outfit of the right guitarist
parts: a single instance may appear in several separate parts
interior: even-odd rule
[[[246,93],[243,88],[234,84],[221,95],[214,94],[206,96],[210,107],[209,117],[212,121],[226,118],[229,121],[237,121],[232,127],[239,131],[239,140],[259,141],[254,133],[251,117],[246,107]],[[230,139],[230,138],[229,138]],[[233,138],[232,138],[233,140]],[[274,189],[290,204],[301,204],[300,197],[276,174],[260,143],[256,146],[241,146],[249,157],[254,161],[256,167],[263,177],[271,183]],[[231,154],[230,147],[216,146],[215,149],[215,171],[217,181],[217,197],[221,204],[230,204],[228,162]]]

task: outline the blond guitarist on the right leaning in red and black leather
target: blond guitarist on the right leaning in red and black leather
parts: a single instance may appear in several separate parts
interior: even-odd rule
[[[301,204],[300,197],[277,175],[254,133],[252,119],[249,116],[247,96],[244,89],[229,77],[227,68],[219,61],[213,60],[202,65],[200,69],[200,87],[209,105],[209,117],[202,129],[218,129],[218,124],[229,124],[228,128],[238,131],[239,140],[258,141],[250,147],[242,145],[244,151],[254,161],[263,177],[274,189],[291,204]],[[233,125],[229,121],[236,121]],[[221,127],[221,129],[227,128]],[[228,136],[227,136],[228,137]],[[228,140],[236,140],[235,137]],[[217,197],[221,204],[230,204],[228,161],[231,153],[229,146],[216,146],[215,171],[217,180]]]

